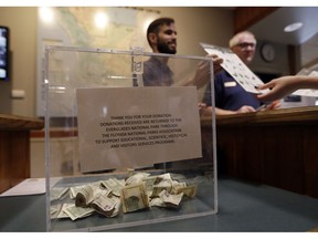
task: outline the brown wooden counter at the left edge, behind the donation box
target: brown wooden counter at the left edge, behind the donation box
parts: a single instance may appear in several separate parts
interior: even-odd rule
[[[43,127],[36,118],[0,114],[0,194],[30,177],[30,131]]]

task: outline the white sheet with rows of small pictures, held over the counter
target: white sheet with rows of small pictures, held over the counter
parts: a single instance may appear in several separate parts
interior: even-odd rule
[[[216,54],[223,59],[221,66],[231,74],[235,81],[246,91],[254,94],[265,93],[268,90],[258,91],[256,86],[264,84],[264,82],[257,77],[244,62],[230,49],[211,45],[206,43],[200,43],[201,46],[209,54]]]

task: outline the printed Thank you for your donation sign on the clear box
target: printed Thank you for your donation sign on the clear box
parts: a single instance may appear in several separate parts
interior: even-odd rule
[[[197,89],[77,89],[82,172],[202,156]]]

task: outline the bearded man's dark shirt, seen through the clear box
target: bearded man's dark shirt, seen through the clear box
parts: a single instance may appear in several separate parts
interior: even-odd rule
[[[173,83],[173,72],[159,59],[151,56],[144,63],[145,86],[170,86]]]

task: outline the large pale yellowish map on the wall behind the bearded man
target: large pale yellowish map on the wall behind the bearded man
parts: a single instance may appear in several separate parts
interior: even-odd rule
[[[44,11],[45,10],[45,11]],[[44,12],[44,13],[43,13]],[[142,48],[146,52],[151,52],[146,31],[148,24],[159,17],[159,12],[150,11],[139,8],[115,8],[115,7],[65,7],[65,8],[39,8],[38,14],[38,89],[36,89],[36,114],[38,116],[44,116],[44,75],[45,75],[45,48],[47,45],[57,46],[76,46],[83,49],[102,49],[102,50],[125,50],[128,51],[134,46]],[[87,55],[86,55],[87,56]],[[93,75],[95,81],[102,79],[100,75],[105,75],[108,72],[103,70],[103,58],[94,58],[93,62],[85,60],[83,67],[83,59],[80,56],[76,59],[67,59],[64,56],[56,58],[56,67],[53,69],[55,76],[61,75],[60,85],[64,85],[65,79],[70,79],[65,75],[66,71],[59,67],[59,65],[72,65],[72,69],[67,69],[67,72],[86,71],[86,75]],[[72,61],[73,64],[66,63]],[[91,62],[88,65],[87,62]],[[112,65],[109,65],[109,62]],[[130,71],[127,63],[120,63],[121,67],[118,67],[118,62],[108,61],[108,69],[113,69],[112,75],[125,74],[125,71]],[[56,72],[55,72],[56,70]],[[60,72],[59,72],[60,71]],[[117,72],[116,72],[117,71]],[[78,72],[76,75],[83,75],[83,72]],[[87,79],[83,79],[83,82]],[[66,84],[66,83],[65,83]],[[72,96],[72,95],[71,95]],[[70,96],[70,97],[71,97]],[[67,102],[67,95],[63,95],[64,102]],[[70,101],[68,101],[70,102]],[[63,102],[61,101],[61,104]],[[67,116],[66,112],[63,112],[62,107],[56,108],[53,112],[53,116]],[[67,108],[65,110],[67,111]],[[66,115],[65,115],[66,114]]]

